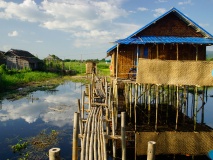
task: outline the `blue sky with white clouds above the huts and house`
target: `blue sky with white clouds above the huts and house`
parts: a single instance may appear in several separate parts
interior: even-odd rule
[[[172,7],[213,34],[212,6],[213,0],[0,0],[0,51],[103,59],[116,40]]]

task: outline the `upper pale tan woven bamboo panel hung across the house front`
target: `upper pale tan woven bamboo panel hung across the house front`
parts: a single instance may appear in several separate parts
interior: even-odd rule
[[[213,62],[139,59],[137,83],[213,85]]]

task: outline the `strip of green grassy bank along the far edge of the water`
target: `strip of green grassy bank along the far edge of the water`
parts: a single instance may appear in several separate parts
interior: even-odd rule
[[[5,65],[0,66],[0,92],[17,89],[19,87],[25,87],[28,85],[34,85],[35,83],[40,85],[51,80],[50,83],[61,83],[65,80],[72,80],[74,82],[86,83],[84,77],[86,76],[86,62],[65,62],[65,68],[67,70],[74,71],[72,76],[62,76],[61,73],[41,72],[24,70],[7,70]],[[97,63],[98,75],[109,75],[109,64],[105,62]]]

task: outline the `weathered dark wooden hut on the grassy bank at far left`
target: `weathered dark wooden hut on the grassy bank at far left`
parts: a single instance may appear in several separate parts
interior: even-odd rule
[[[37,70],[40,69],[42,65],[42,61],[40,59],[24,50],[10,49],[5,53],[5,56],[8,69],[30,68],[32,70]]]

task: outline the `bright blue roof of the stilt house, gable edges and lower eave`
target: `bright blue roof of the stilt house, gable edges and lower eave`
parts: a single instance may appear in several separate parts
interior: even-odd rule
[[[181,20],[183,20],[186,24],[189,26],[192,26],[196,31],[200,32],[204,38],[197,38],[197,37],[156,37],[156,36],[146,36],[146,37],[137,37],[137,34],[143,31],[144,29],[148,28],[152,24],[156,23],[158,20],[162,19],[166,15],[170,13],[175,13],[176,16],[178,16]],[[136,39],[132,37],[137,37]],[[142,40],[144,42],[140,42],[140,39],[143,38]],[[182,40],[182,42],[181,42]],[[194,43],[194,44],[207,44],[207,45],[212,45],[213,41],[213,35],[211,35],[209,32],[207,32],[205,29],[203,29],[201,26],[199,26],[197,23],[192,21],[189,17],[184,15],[182,12],[177,10],[176,8],[172,8],[168,12],[164,13],[157,19],[153,20],[149,24],[145,25],[144,27],[140,28],[127,38],[123,40],[117,40],[116,43],[121,43],[121,44],[146,44],[146,43]],[[111,52],[113,49],[115,49],[117,45],[114,45],[110,49],[107,50],[107,53]]]

